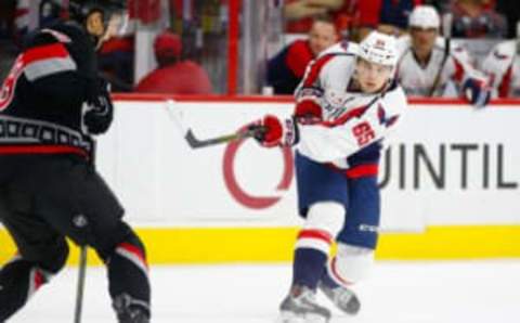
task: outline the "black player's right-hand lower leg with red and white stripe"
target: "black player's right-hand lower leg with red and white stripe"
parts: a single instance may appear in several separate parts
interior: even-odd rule
[[[151,315],[148,266],[144,245],[135,233],[116,246],[106,264],[109,293],[119,322],[147,323]]]

